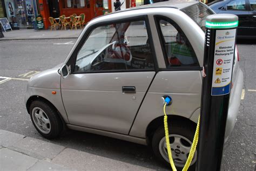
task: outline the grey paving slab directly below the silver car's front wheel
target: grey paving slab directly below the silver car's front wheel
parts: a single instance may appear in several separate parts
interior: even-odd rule
[[[37,159],[53,159],[56,155],[62,152],[65,147],[27,137],[14,143],[8,148],[29,156],[33,156]]]

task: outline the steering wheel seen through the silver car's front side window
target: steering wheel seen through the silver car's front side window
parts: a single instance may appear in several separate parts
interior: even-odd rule
[[[119,51],[117,50],[119,47]],[[124,43],[113,43],[112,44],[112,51],[114,56],[117,59],[124,59],[127,62],[130,62],[132,60],[132,53],[129,47],[127,47]]]

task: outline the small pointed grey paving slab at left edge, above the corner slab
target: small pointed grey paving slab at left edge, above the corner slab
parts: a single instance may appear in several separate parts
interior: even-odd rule
[[[8,147],[22,140],[25,136],[0,129],[0,148]]]

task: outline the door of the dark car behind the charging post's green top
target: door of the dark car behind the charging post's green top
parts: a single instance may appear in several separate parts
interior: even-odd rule
[[[230,1],[226,5],[226,11],[221,13],[232,13],[238,16],[238,36],[250,36],[251,18],[249,14],[248,0]]]

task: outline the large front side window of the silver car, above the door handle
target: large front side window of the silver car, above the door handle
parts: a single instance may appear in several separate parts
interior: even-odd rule
[[[154,63],[145,22],[93,29],[79,52],[75,72],[152,70]]]

